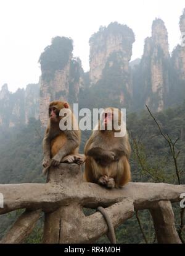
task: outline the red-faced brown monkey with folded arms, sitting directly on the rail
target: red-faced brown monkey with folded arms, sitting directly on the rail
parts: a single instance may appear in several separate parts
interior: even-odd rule
[[[115,114],[115,108],[106,108],[103,118],[99,120],[96,130],[88,139],[84,148],[86,156],[84,179],[87,182],[99,183],[108,188],[118,188],[131,180],[130,143],[128,133],[124,136],[115,137],[115,132],[123,131],[121,126],[121,112]],[[120,129],[108,129],[115,120],[118,121]],[[104,130],[101,130],[104,125]],[[125,130],[126,131],[126,130]]]

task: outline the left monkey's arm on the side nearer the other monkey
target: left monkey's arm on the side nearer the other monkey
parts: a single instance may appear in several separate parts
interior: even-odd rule
[[[67,142],[64,146],[52,157],[52,166],[58,166],[60,161],[67,156],[68,154],[72,153],[74,149],[76,149],[80,144],[80,136],[78,131],[67,131]]]

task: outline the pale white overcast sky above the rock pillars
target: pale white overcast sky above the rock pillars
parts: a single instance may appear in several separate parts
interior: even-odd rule
[[[0,87],[7,83],[15,91],[38,82],[39,55],[56,35],[73,39],[73,55],[88,71],[89,37],[113,21],[128,25],[136,35],[132,60],[141,57],[155,17],[165,21],[172,51],[179,43],[184,7],[184,0],[1,0]]]

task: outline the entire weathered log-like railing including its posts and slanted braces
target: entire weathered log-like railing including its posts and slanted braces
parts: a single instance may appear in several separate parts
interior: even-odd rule
[[[38,218],[38,212],[34,210],[41,209],[45,212],[44,243],[94,242],[107,233],[107,223],[99,212],[84,216],[83,207],[96,209],[103,206],[114,227],[131,218],[134,210],[150,209],[158,242],[179,242],[169,201],[181,200],[180,195],[184,192],[185,185],[133,182],[123,188],[109,190],[84,182],[78,165],[60,164],[59,167],[51,167],[45,184],[0,185],[0,193],[4,196],[4,208],[0,208],[0,214],[20,208],[33,211],[30,213],[32,219],[28,221],[27,212],[23,214],[2,241],[22,241],[23,230],[27,235]],[[160,201],[165,201],[165,207],[160,205]],[[159,220],[157,214],[162,219]],[[23,225],[23,229],[19,224]],[[169,232],[171,235],[168,234],[163,240],[159,232],[163,236]]]

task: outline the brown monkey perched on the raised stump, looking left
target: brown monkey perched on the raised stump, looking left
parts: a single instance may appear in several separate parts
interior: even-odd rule
[[[65,110],[65,115],[59,115],[60,110]],[[60,121],[72,122],[72,130],[60,130]],[[63,119],[64,118],[64,119]],[[76,127],[76,129],[74,129]],[[72,110],[68,102],[53,101],[49,104],[49,122],[43,139],[43,173],[46,174],[49,167],[58,166],[60,162],[76,162],[82,164],[83,155],[78,154],[80,144],[80,130],[76,124]]]

